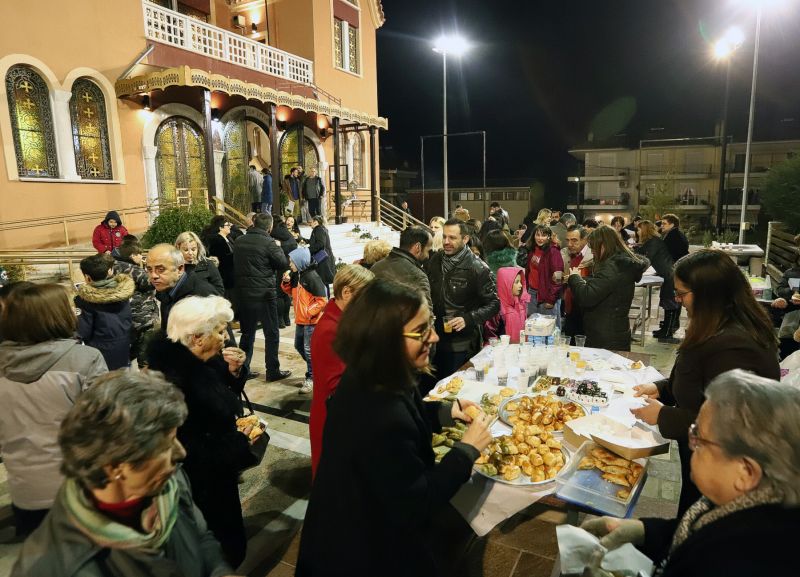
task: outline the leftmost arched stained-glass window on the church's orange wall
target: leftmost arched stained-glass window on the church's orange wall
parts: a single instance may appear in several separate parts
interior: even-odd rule
[[[47,84],[30,66],[14,66],[6,74],[6,93],[19,175],[58,178]]]

